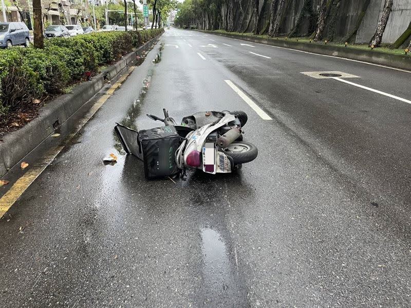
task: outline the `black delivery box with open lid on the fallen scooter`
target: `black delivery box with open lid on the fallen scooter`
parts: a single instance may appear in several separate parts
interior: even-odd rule
[[[180,137],[174,126],[165,125],[137,132],[117,123],[115,131],[124,151],[143,160],[147,179],[170,176],[180,171],[174,157]]]

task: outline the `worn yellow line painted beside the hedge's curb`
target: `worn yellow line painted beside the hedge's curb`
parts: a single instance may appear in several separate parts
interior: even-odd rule
[[[99,110],[99,108],[113,95],[114,91],[121,85],[122,82],[132,73],[135,66],[131,66],[127,72],[119,78],[108,90],[100,97],[97,102],[91,106],[87,114],[77,123],[74,132],[69,134],[62,145],[50,149],[46,155],[29,169],[22,177],[16,180],[14,185],[0,198],[0,218],[9,210],[9,208],[17,201],[17,199],[25,192],[25,190],[34,182],[34,180],[47,168],[54,158],[63,150],[65,145],[71,138],[81,130],[85,123],[87,123],[92,116]]]

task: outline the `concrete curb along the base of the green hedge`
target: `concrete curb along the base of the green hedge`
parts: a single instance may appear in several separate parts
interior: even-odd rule
[[[77,85],[72,93],[47,102],[47,105],[41,108],[39,117],[20,130],[4,136],[3,142],[0,143],[0,177],[4,176],[9,169],[53,134],[55,128],[63,124],[99,93],[107,80],[116,79],[128,66],[133,65],[136,62],[136,52],[152,45],[161,34],[137,48],[136,51],[128,53],[116,64],[104,69],[91,81]]]

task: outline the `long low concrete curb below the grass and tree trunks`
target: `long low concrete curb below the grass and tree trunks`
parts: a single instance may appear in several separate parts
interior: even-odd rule
[[[247,35],[219,33],[214,31],[197,30],[203,33],[212,33],[220,35],[221,37],[227,37],[231,39],[239,39],[243,41],[266,44],[276,47],[284,47],[289,49],[296,49],[302,51],[308,51],[313,53],[319,53],[320,55],[333,56],[339,58],[347,58],[352,60],[364,61],[369,63],[375,63],[379,65],[391,66],[396,68],[402,68],[411,70],[411,56],[394,55],[391,53],[383,53],[371,50],[362,50],[354,48],[345,48],[332,45],[320,45],[310,44],[295,41],[274,40],[274,39],[261,39],[248,37]]]

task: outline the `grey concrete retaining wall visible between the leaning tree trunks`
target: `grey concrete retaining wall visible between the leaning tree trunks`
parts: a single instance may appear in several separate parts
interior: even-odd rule
[[[241,30],[245,30],[247,27],[247,21],[251,16],[253,5],[251,0],[240,0],[242,8],[245,10],[244,14],[246,18],[240,26]],[[286,1],[286,7],[283,16],[283,22],[279,29],[281,35],[287,35],[294,28],[298,16],[300,16],[305,0],[288,0]],[[316,14],[318,12],[319,4],[321,0],[312,0],[312,16],[305,16],[300,26],[297,29],[296,36],[307,36],[310,35],[315,29]],[[366,0],[342,0],[340,3],[340,8],[338,10],[337,21],[335,26],[334,41],[339,41],[347,33],[349,33],[354,26],[357,24],[359,16],[361,14],[362,7]],[[237,3],[237,2],[235,2]],[[270,6],[272,0],[260,0],[260,9],[264,9],[261,12],[261,21],[259,24],[260,30],[265,28],[267,22],[270,19]],[[361,26],[357,33],[357,38],[355,38],[356,43],[368,43],[376,30],[377,23],[383,9],[384,0],[371,0],[366,14],[362,20]],[[225,11],[225,5],[222,5],[222,12]],[[235,31],[237,31],[237,25],[240,24],[238,14],[238,8],[234,14],[234,25]],[[314,22],[312,21],[314,19]],[[310,25],[311,20],[311,25]],[[411,0],[395,0],[393,11],[390,14],[386,30],[383,35],[383,43],[393,43],[398,37],[404,32],[407,28],[409,22],[411,21]],[[199,25],[201,28],[201,25]],[[252,31],[252,22],[251,26],[247,32]],[[327,20],[326,28],[324,29],[324,38],[327,39],[328,35],[331,32],[331,29],[334,29],[334,26],[331,25],[330,17]]]

